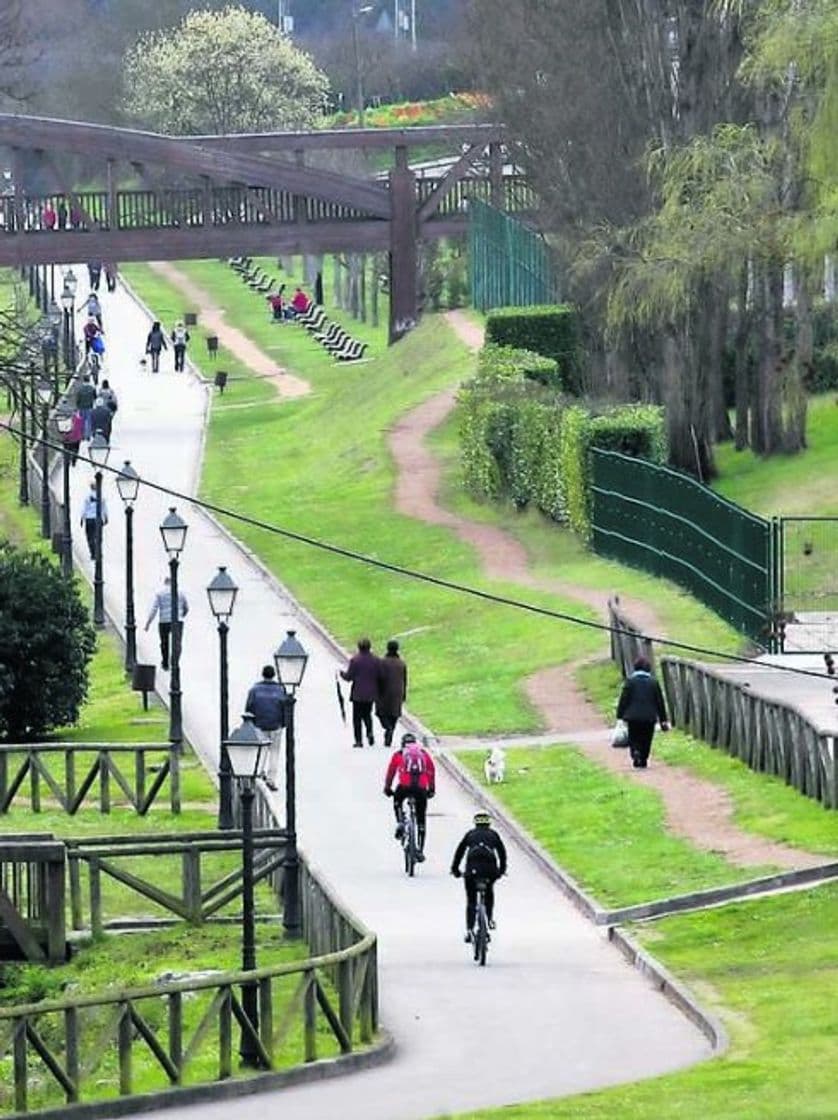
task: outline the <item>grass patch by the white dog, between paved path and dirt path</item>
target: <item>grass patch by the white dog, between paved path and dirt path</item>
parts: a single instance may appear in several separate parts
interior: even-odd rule
[[[457,757],[482,784],[483,756],[472,750]],[[616,777],[572,747],[508,749],[506,781],[492,793],[606,907],[775,870],[735,867],[672,836],[654,790]]]

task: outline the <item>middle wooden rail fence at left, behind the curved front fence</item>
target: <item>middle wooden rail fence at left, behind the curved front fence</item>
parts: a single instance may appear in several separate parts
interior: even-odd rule
[[[281,829],[258,830],[253,840],[254,881],[267,879],[279,898],[287,849],[286,833]],[[202,925],[212,915],[239,898],[242,893],[242,867],[239,857],[242,833],[239,831],[84,838],[68,840],[66,846],[73,930],[91,930],[94,935],[104,931],[109,913],[103,902],[103,879],[119,883],[169,914],[195,925]],[[214,861],[217,865],[218,860],[215,857],[225,853],[236,855],[233,869],[207,884],[207,862]],[[158,869],[160,878],[169,889],[134,874],[124,866],[127,860],[148,857],[153,857],[152,866]],[[160,864],[159,860],[165,862]],[[178,862],[179,876],[176,869]],[[89,899],[86,915],[83,889],[85,869]],[[217,874],[217,866],[215,871]],[[179,892],[175,894],[170,885],[173,879],[177,878],[179,878]],[[119,916],[121,915],[110,915],[114,920]]]

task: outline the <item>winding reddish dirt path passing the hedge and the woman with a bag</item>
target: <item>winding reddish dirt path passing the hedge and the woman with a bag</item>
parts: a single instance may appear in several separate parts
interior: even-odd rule
[[[483,344],[479,326],[460,311],[449,311],[446,318],[467,346],[479,348]],[[428,449],[426,437],[447,418],[455,400],[454,390],[437,393],[403,417],[391,430],[389,444],[398,468],[395,506],[399,512],[451,529],[460,540],[476,550],[490,578],[540,591],[552,591],[564,598],[584,603],[600,617],[606,617],[608,596],[605,592],[536,577],[525,549],[510,533],[494,525],[468,521],[440,506],[438,495],[441,467]],[[646,633],[664,633],[658,616],[648,604],[624,598],[623,606],[635,625]],[[579,749],[598,765],[606,766],[622,777],[657,790],[665,806],[669,829],[697,848],[717,851],[729,862],[743,867],[773,865],[793,868],[823,862],[823,857],[774,843],[739,829],[733,820],[734,805],[730,796],[711,782],[663,763],[657,763],[646,771],[631,768],[627,752],[608,746],[611,728],[576,682],[575,673],[580,664],[581,662],[576,662],[542,669],[524,684],[527,694],[541,713],[548,731],[558,735],[566,735],[568,731],[585,732],[584,738],[580,736]],[[602,737],[592,739],[587,734],[590,731],[599,731]]]

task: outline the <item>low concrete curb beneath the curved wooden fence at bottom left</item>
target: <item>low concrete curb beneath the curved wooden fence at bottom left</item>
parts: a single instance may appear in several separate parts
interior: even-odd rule
[[[139,1116],[158,1109],[186,1108],[208,1101],[234,1101],[240,1096],[270,1092],[291,1085],[304,1085],[333,1077],[343,1077],[361,1070],[372,1070],[383,1065],[395,1055],[395,1043],[391,1035],[381,1032],[381,1039],[369,1049],[346,1054],[342,1057],[323,1058],[310,1065],[295,1066],[279,1073],[262,1073],[253,1077],[216,1081],[205,1085],[189,1085],[184,1089],[164,1089],[159,1093],[142,1093],[137,1096],[120,1096],[112,1101],[91,1101],[86,1104],[64,1104],[56,1109],[45,1109],[35,1113],[38,1120],[111,1120],[114,1117]],[[31,1112],[11,1112],[9,1120],[22,1120]]]

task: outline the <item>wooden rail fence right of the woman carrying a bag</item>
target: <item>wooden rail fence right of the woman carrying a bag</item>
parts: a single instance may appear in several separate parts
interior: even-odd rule
[[[709,665],[662,657],[673,724],[838,809],[836,739],[791,704],[766,700]]]

